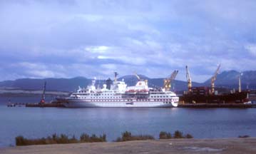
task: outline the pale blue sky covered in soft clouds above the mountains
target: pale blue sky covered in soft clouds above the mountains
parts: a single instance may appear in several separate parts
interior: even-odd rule
[[[255,70],[255,0],[0,0],[0,81]]]

